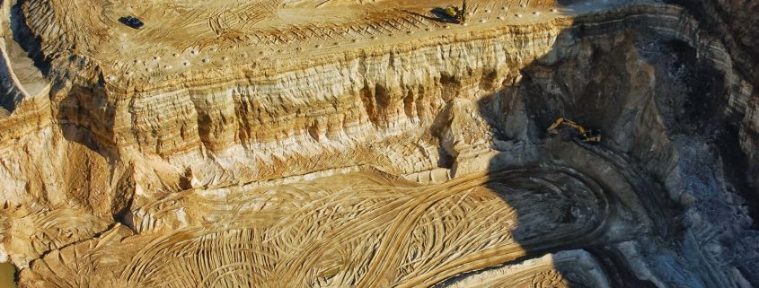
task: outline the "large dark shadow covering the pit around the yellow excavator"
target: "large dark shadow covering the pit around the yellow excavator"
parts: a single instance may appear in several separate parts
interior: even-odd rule
[[[499,143],[505,144],[491,147],[499,153],[490,158],[487,186],[498,193],[506,205],[515,209],[517,226],[513,237],[527,251],[527,256],[504,264],[516,264],[546,253],[583,249],[596,259],[612,287],[656,287],[653,282],[636,277],[626,259],[629,255],[625,255],[617,244],[634,241],[659,247],[654,250],[682,253],[680,250],[686,245],[684,232],[689,223],[685,219],[685,207],[680,204],[683,200],[673,200],[669,196],[673,192],[667,191],[667,173],[683,162],[704,165],[702,169],[680,171],[685,174],[683,185],[688,188],[696,186],[696,190],[704,189],[717,195],[715,190],[710,190],[717,188],[708,185],[715,181],[714,176],[705,175],[712,171],[707,166],[721,166],[726,183],[742,192],[741,195],[749,201],[754,201],[755,197],[752,196],[753,190],[746,186],[746,174],[741,172],[746,167],[746,155],[739,149],[735,133],[737,122],[724,112],[727,92],[719,71],[708,61],[696,57],[695,50],[683,41],[642,27],[639,31],[620,29],[623,32],[617,35],[605,35],[609,31],[613,30],[577,26],[562,31],[551,51],[520,69],[521,82],[501,83],[497,92],[477,101],[482,118],[488,120]],[[604,37],[623,39],[601,43],[599,39]],[[631,61],[639,66],[631,68]],[[603,143],[592,146],[577,139],[562,141],[551,137],[545,128],[559,117],[605,131]],[[658,117],[664,118],[663,125],[659,124]],[[525,127],[527,132],[514,133],[505,127]],[[682,150],[692,149],[689,143],[692,138],[709,146],[708,150],[713,153],[701,155],[702,159],[683,155]],[[534,157],[515,161],[512,153],[519,149],[509,148],[517,146],[522,147],[523,152],[524,147],[528,147],[526,149],[531,150]],[[578,174],[580,182],[589,187],[596,185],[598,192],[608,197],[609,214],[599,214],[608,219],[598,223],[596,230],[583,231],[578,238],[551,239],[552,230],[558,226],[536,221],[540,220],[541,214],[561,224],[577,222],[578,215],[571,209],[568,211],[572,213],[563,215],[540,211],[545,205],[525,202],[524,191],[513,188],[524,185],[523,181],[545,182],[552,178],[542,174],[547,167]],[[613,178],[608,170],[604,170],[609,168],[616,169],[613,174],[621,176]],[[527,172],[524,178],[515,180],[505,179],[504,170]],[[630,187],[629,191],[618,191],[623,187],[617,183],[619,179],[627,182],[624,186]],[[552,185],[536,188],[533,194],[538,196],[533,197],[560,205],[560,197],[552,196],[555,192],[552,189],[566,189],[563,190],[565,199],[571,199],[572,194],[578,192],[566,185],[558,179]],[[630,204],[635,201],[640,205]],[[720,203],[712,205],[718,205],[715,209],[720,209]],[[622,212],[635,207],[642,207],[642,211]],[[717,216],[712,219],[719,219],[719,214],[726,211],[714,213]],[[630,215],[622,214],[634,216],[628,219]],[[751,214],[759,219],[755,216],[755,205]],[[663,261],[675,261],[667,258],[669,256],[660,257],[666,258]],[[678,263],[680,270],[675,273],[686,276],[672,276],[668,279],[672,283],[691,287],[720,285],[712,275],[701,271],[710,269],[710,264]],[[652,264],[655,267],[660,265]],[[739,262],[734,265],[744,271]],[[552,268],[567,287],[595,287],[571,266]],[[688,271],[689,268],[698,271]],[[451,284],[466,275],[444,284]],[[544,276],[534,275],[535,279]]]

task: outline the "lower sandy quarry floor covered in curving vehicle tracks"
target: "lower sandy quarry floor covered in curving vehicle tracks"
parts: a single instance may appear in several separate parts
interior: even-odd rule
[[[119,288],[426,287],[592,242],[616,205],[595,179],[554,165],[430,186],[375,173],[345,179],[233,189],[224,197],[189,190],[140,208],[140,234],[97,246],[140,248],[115,270],[123,271],[113,279]],[[573,206],[576,220],[564,222]],[[543,222],[531,225],[538,215]],[[199,223],[159,232],[181,218]]]

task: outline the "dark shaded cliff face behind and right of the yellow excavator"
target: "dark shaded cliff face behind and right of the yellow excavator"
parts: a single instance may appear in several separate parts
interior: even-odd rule
[[[697,239],[701,237],[698,235],[713,232],[715,239],[720,240],[707,240],[712,243],[709,245],[732,243],[728,245],[732,248],[721,246],[709,250],[695,248],[693,243],[686,241],[681,257],[721,258],[732,257],[728,255],[737,251],[747,252],[746,257],[736,257],[740,260],[734,262],[742,277],[735,278],[732,272],[718,272],[719,261],[708,260],[700,264],[711,267],[706,270],[687,268],[702,271],[702,275],[709,275],[708,278],[696,282],[667,278],[666,273],[662,274],[667,269],[658,270],[663,268],[658,264],[655,265],[658,268],[652,270],[655,276],[649,278],[653,283],[718,287],[755,282],[753,258],[757,254],[755,250],[747,249],[753,244],[749,244],[751,240],[738,244],[741,241],[735,238],[743,235],[741,237],[753,239],[756,234],[747,213],[752,209],[751,204],[737,197],[750,197],[754,190],[746,187],[746,170],[740,166],[740,156],[736,156],[740,153],[740,138],[734,115],[739,115],[741,108],[729,104],[751,97],[751,93],[739,92],[751,89],[750,85],[743,81],[733,82],[731,79],[740,79],[737,71],[725,71],[722,70],[725,66],[715,65],[728,60],[711,54],[717,52],[719,55],[719,46],[701,46],[703,49],[700,49],[694,45],[696,48],[693,48],[685,42],[688,39],[677,36],[682,31],[670,34],[675,37],[664,40],[652,38],[646,32],[627,31],[627,34],[610,37],[605,31],[605,37],[614,39],[608,42],[587,37],[595,32],[594,28],[568,30],[567,39],[557,40],[557,46],[566,46],[558,49],[555,55],[548,55],[525,67],[522,85],[487,101],[484,110],[513,107],[514,102],[507,105],[496,103],[503,97],[522,97],[526,111],[537,127],[546,127],[556,114],[561,114],[573,115],[590,127],[601,128],[605,135],[604,146],[613,147],[611,151],[622,154],[596,153],[603,154],[609,161],[615,159],[613,162],[618,165],[615,169],[638,170],[636,173],[645,171],[643,175],[652,178],[637,174],[640,179],[637,184],[632,184],[632,189],[647,191],[638,193],[644,205],[651,208],[648,214],[654,231],[658,231],[655,234],[665,238]],[[507,113],[500,123],[514,121],[515,114],[519,113]],[[576,163],[574,167],[587,175],[608,177],[606,170],[596,167],[596,162],[575,154],[572,149],[554,146],[551,151],[563,161]],[[611,189],[624,190],[619,187]],[[666,194],[669,200],[658,198],[656,195],[661,196],[660,193]],[[660,221],[668,217],[666,214],[679,209],[683,209],[686,215],[683,223]],[[680,233],[683,236],[674,236]]]

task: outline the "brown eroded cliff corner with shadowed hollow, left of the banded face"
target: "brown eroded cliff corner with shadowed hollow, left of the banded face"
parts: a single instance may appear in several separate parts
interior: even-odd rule
[[[83,206],[100,207],[96,213],[110,214],[115,222],[134,227],[129,208],[135,191],[134,163],[124,162],[116,143],[117,105],[101,89],[75,86],[57,100],[56,118],[60,135],[66,139],[66,161],[61,177],[66,194]],[[95,201],[91,204],[88,201]]]

